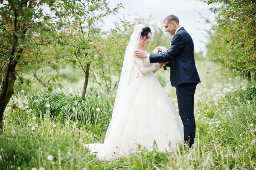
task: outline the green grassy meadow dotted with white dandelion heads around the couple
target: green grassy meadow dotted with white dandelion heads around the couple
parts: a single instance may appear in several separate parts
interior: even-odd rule
[[[117,161],[99,161],[83,144],[104,141],[113,99],[94,88],[85,100],[76,92],[30,90],[18,93],[6,109],[0,169],[256,169],[254,84],[221,76],[212,63],[197,64],[202,83],[195,94],[193,148],[180,146],[171,153],[142,149]],[[161,81],[167,84],[169,72],[160,73],[157,76],[166,77]],[[177,109],[175,88],[167,84],[165,89]]]

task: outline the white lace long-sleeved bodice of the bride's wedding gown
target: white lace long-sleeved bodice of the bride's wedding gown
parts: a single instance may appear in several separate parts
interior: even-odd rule
[[[159,63],[149,63],[148,59],[135,58],[134,63],[140,75],[152,74],[153,71],[160,70]]]

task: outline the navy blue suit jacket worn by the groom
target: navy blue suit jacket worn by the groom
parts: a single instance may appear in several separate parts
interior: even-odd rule
[[[182,83],[200,83],[195,67],[194,43],[188,32],[182,27],[172,38],[171,46],[164,54],[151,54],[150,63],[167,63],[170,66],[172,86]]]

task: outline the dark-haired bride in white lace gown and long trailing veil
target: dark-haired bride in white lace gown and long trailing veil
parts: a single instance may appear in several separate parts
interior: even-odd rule
[[[183,124],[163,87],[154,77],[160,67],[135,58],[134,51],[150,42],[151,30],[139,24],[125,50],[111,122],[103,144],[85,144],[100,160],[127,157],[140,148],[175,150],[183,141]]]

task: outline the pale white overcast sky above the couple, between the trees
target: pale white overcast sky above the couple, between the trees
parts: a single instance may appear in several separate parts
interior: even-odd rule
[[[203,51],[204,54],[206,53],[205,44],[209,38],[207,38],[208,34],[205,30],[209,30],[211,24],[206,24],[201,17],[208,17],[210,21],[213,21],[215,17],[209,11],[211,6],[208,6],[207,3],[200,0],[107,0],[107,2],[112,8],[116,4],[122,3],[125,9],[119,10],[119,14],[116,16],[106,18],[105,29],[112,28],[113,22],[119,21],[119,18],[122,18],[123,15],[128,21],[134,21],[137,16],[148,18],[151,14],[159,20],[163,20],[169,14],[174,14],[179,18],[180,26],[183,26],[191,35],[195,44],[195,52]],[[163,26],[163,24],[160,22],[159,26]]]

